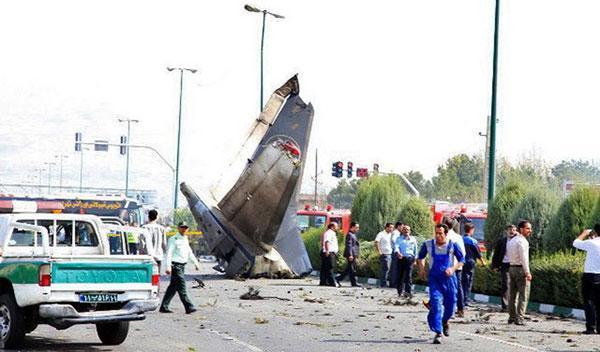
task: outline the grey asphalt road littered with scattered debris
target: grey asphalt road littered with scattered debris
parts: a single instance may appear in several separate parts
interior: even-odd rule
[[[179,299],[174,314],[153,312],[132,322],[120,346],[100,344],[93,326],[57,331],[40,326],[27,336],[28,351],[600,351],[600,335],[579,334],[584,324],[542,314],[526,326],[507,325],[497,307],[476,304],[451,320],[451,336],[432,345],[426,309],[397,300],[395,290],[319,287],[314,278],[225,280],[203,264],[188,287],[198,312],[186,315]],[[193,277],[205,288],[191,288]],[[164,278],[167,280],[167,278]],[[166,289],[167,282],[161,282]],[[241,300],[249,287],[263,300]],[[273,298],[267,298],[273,297]],[[400,304],[400,305],[396,305]]]

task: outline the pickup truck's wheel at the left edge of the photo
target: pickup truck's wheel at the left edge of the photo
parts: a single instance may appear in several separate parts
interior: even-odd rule
[[[19,347],[25,338],[23,310],[12,293],[0,295],[0,348]]]

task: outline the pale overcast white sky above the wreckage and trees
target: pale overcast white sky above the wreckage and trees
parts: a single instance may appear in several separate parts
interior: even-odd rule
[[[0,3],[0,182],[38,182],[65,154],[79,182],[74,133],[132,143],[174,164],[184,79],[180,180],[205,188],[258,114],[261,15],[245,1],[4,1]],[[427,177],[457,153],[482,153],[490,112],[492,0],[255,1],[267,18],[265,96],[295,73],[315,108],[307,172],[331,162]],[[598,158],[600,2],[504,0],[498,153],[550,162]],[[117,150],[86,152],[84,183],[123,187]],[[57,169],[51,182],[58,183]],[[172,174],[131,154],[131,185],[172,194]],[[47,183],[48,172],[42,173]]]

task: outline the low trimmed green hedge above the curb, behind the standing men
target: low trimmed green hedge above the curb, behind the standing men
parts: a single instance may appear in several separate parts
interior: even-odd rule
[[[308,251],[314,270],[321,267],[319,238],[322,229],[310,229],[302,237]],[[343,236],[338,235],[340,253],[343,253]],[[420,248],[420,245],[419,245]],[[562,307],[582,307],[581,275],[585,253],[559,252],[551,255],[537,254],[531,258],[531,286],[530,301],[537,303],[554,304]],[[346,260],[340,255],[337,261],[338,272],[346,267]],[[417,276],[416,268],[413,271],[415,284],[426,284]],[[372,241],[360,244],[360,258],[357,261],[357,273],[361,277],[377,278],[379,276],[379,256]],[[473,292],[490,296],[500,296],[500,274],[490,269],[489,266],[478,266],[475,269]]]

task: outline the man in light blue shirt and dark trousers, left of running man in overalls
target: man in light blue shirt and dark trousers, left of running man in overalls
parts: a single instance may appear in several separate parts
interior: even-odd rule
[[[396,289],[398,296],[412,297],[412,268],[417,256],[417,240],[410,235],[410,226],[404,225],[402,233],[396,239],[394,245],[394,257],[398,263],[398,282]]]

